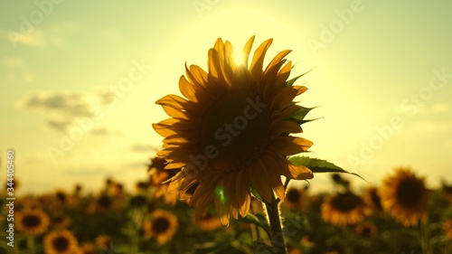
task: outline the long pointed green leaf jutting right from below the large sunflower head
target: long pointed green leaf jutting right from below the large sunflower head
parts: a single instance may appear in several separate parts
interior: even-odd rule
[[[306,156],[293,156],[290,157],[289,162],[293,165],[305,165],[309,168],[313,173],[345,173],[345,174],[353,174],[358,176],[367,182],[361,175],[356,173],[350,173],[344,170],[342,167],[329,163],[325,160],[310,158]]]

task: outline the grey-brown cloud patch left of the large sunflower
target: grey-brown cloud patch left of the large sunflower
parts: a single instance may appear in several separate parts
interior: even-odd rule
[[[46,117],[45,127],[58,132],[67,132],[80,125],[85,118],[99,118],[105,106],[104,96],[99,91],[33,91],[17,101],[18,108],[40,113]],[[93,135],[117,134],[104,127],[90,129]]]

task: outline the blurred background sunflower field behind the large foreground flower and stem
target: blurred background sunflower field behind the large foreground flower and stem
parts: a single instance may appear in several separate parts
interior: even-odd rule
[[[213,206],[195,222],[195,208],[161,184],[170,177],[162,165],[151,160],[150,178],[130,192],[108,178],[99,193],[77,185],[17,197],[14,248],[3,244],[0,253],[278,253],[257,198],[228,226]],[[331,176],[330,193],[288,185],[279,205],[287,253],[452,253],[452,186],[428,190],[407,168],[360,192],[348,176]]]

